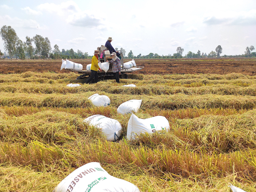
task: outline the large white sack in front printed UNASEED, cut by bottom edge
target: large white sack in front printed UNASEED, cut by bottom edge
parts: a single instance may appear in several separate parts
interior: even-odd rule
[[[113,177],[98,162],[87,163],[62,180],[53,192],[140,192],[134,184]]]

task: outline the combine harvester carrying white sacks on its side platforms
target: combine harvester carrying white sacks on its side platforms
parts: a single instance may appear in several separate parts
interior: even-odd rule
[[[113,79],[114,73],[112,70],[112,64],[108,62],[112,59],[109,50],[107,50],[107,47],[104,46],[98,47],[98,50],[99,53],[101,53],[99,56],[99,67],[102,69],[102,72],[98,71],[98,79]],[[144,68],[143,66],[136,66],[134,59],[132,61],[123,63],[123,53],[121,52],[119,58],[121,61],[121,75],[119,76],[119,78],[127,79],[128,75],[126,73],[131,73]],[[61,70],[62,69],[82,74],[76,78],[76,80],[81,83],[85,83],[86,79],[89,78],[91,75],[91,64],[87,65],[86,68],[83,68],[82,64],[78,64],[67,59],[66,61],[62,59]],[[89,83],[93,82],[94,79],[92,79]]]

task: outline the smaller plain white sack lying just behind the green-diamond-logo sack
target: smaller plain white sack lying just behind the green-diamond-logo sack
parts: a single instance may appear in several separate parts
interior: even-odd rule
[[[121,105],[119,105],[119,107],[117,108],[117,113],[127,114],[127,113],[132,113],[133,111],[137,113],[141,103],[142,103],[142,99],[140,100],[132,99],[132,100],[126,101]]]

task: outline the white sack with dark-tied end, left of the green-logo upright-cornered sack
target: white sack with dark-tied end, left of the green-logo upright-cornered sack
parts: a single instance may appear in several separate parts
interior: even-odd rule
[[[96,126],[102,130],[108,141],[116,141],[121,136],[122,126],[115,120],[103,115],[93,115],[86,118],[83,122]]]

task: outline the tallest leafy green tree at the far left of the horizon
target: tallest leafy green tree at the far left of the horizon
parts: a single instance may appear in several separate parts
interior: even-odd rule
[[[0,35],[4,42],[4,48],[12,59],[12,55],[15,53],[15,45],[18,40],[18,36],[11,26],[7,27],[6,25],[1,28]]]

